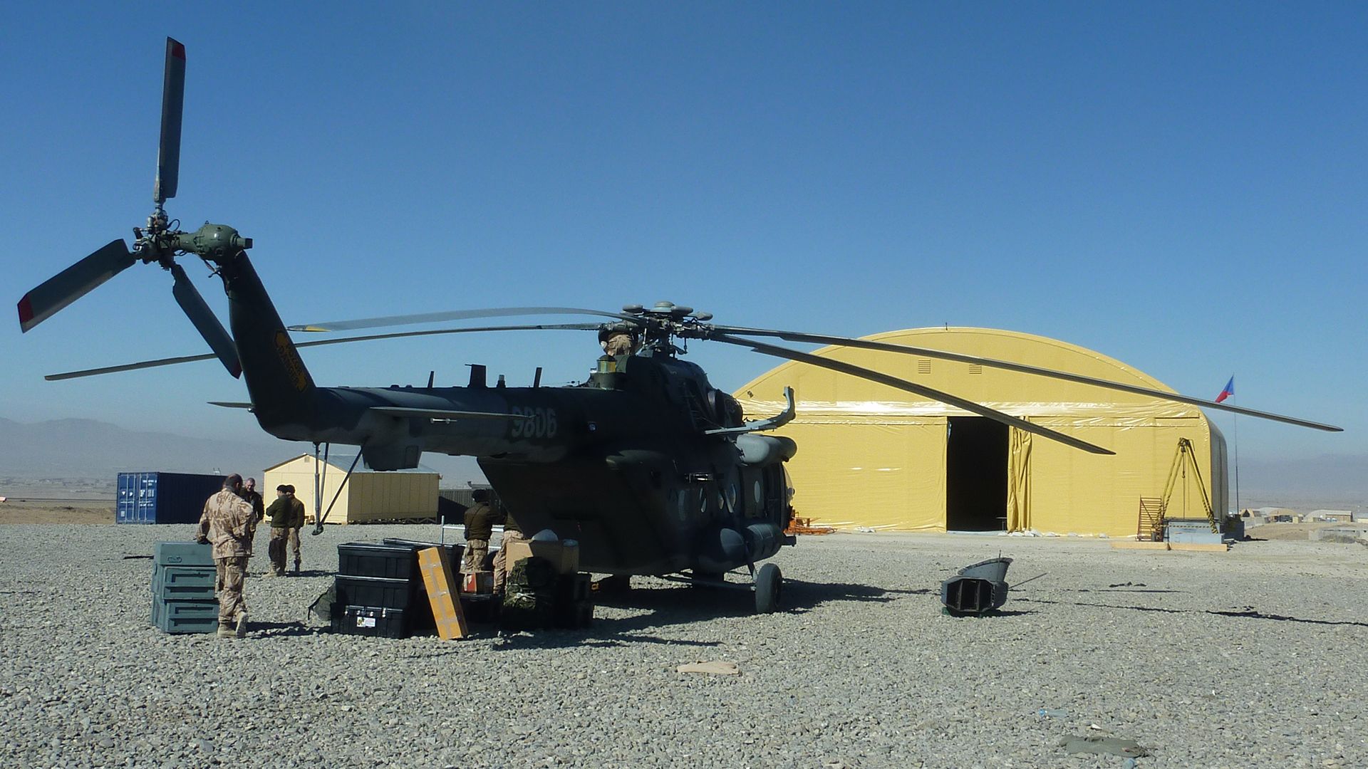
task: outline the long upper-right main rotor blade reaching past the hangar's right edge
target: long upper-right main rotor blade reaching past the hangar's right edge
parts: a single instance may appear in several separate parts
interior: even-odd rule
[[[1319,421],[1311,421],[1305,419],[1298,419],[1294,416],[1285,416],[1280,413],[1263,412],[1257,409],[1249,409],[1245,406],[1235,406],[1231,404],[1218,404],[1216,401],[1208,401],[1205,398],[1194,398],[1192,395],[1182,395],[1179,393],[1168,393],[1164,390],[1155,390],[1150,387],[1140,387],[1135,384],[1124,384],[1120,382],[1112,382],[1109,379],[1097,379],[1093,376],[1083,376],[1082,374],[1070,374],[1067,371],[1056,371],[1053,368],[1040,368],[1036,365],[1027,365],[1025,363],[1012,363],[1007,360],[995,360],[978,356],[970,356],[963,353],[951,353],[945,350],[934,350],[930,348],[915,348],[911,345],[895,345],[891,342],[874,342],[870,339],[855,339],[850,337],[828,337],[825,334],[803,334],[799,331],[774,331],[769,328],[741,328],[735,326],[714,326],[718,331],[725,334],[741,334],[748,337],[777,337],[788,342],[813,342],[818,345],[839,345],[843,348],[859,348],[865,350],[880,350],[886,353],[900,353],[900,354],[915,354],[925,357],[934,357],[941,360],[953,360],[959,363],[971,363],[978,365],[986,365],[989,368],[1001,368],[1005,371],[1016,371],[1019,374],[1034,374],[1038,376],[1049,376],[1051,379],[1063,379],[1064,382],[1077,382],[1079,384],[1092,384],[1094,387],[1105,387],[1108,390],[1119,390],[1122,393],[1134,393],[1137,395],[1149,395],[1153,398],[1160,398],[1164,401],[1174,401],[1179,404],[1189,404],[1194,406],[1201,406],[1204,409],[1219,409],[1231,413],[1241,413],[1245,416],[1253,416],[1257,419],[1268,419],[1272,421],[1282,421],[1286,424],[1295,424],[1298,427],[1311,427],[1312,430],[1324,430],[1327,432],[1342,432],[1342,427],[1335,427],[1334,424],[1321,424]]]

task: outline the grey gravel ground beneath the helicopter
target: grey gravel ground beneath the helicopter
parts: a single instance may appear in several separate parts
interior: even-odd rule
[[[150,561],[126,558],[190,532],[0,527],[0,765],[1123,766],[1057,746],[1096,725],[1141,768],[1368,766],[1354,545],[810,536],[776,560],[784,613],[636,579],[588,631],[443,642],[305,621],[338,543],[435,532],[335,527],[301,577],[253,558],[253,629],[219,640],[149,627]],[[999,553],[1045,576],[941,614],[940,580]],[[710,660],[741,675],[676,672]]]

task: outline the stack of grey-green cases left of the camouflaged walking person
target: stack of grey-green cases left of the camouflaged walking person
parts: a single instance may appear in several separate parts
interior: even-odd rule
[[[194,542],[157,542],[152,558],[152,624],[164,632],[219,629],[213,549]]]

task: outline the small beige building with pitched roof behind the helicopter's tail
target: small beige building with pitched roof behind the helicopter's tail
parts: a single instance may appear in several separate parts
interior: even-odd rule
[[[331,512],[323,523],[367,523],[384,520],[435,519],[438,482],[440,475],[425,469],[404,471],[372,471],[357,464],[356,471],[342,479],[352,467],[349,457],[328,457],[326,472],[320,471],[323,480],[323,510],[337,497]],[[294,486],[294,495],[304,502],[304,509],[309,523],[313,523],[313,490],[316,467],[313,454],[300,454],[275,467],[269,467],[264,475],[261,494],[265,504],[275,499],[275,488],[280,484]],[[342,488],[342,494],[338,494]]]

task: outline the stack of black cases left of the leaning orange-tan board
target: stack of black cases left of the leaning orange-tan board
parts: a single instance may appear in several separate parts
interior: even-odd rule
[[[338,545],[334,632],[408,638],[416,623],[432,621],[421,586],[415,547]]]

